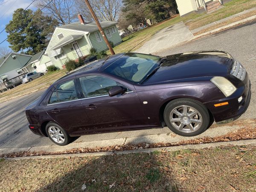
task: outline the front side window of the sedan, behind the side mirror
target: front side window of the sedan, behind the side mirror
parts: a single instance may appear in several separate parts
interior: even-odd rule
[[[108,95],[111,88],[119,85],[116,81],[102,76],[84,76],[79,81],[85,98]]]

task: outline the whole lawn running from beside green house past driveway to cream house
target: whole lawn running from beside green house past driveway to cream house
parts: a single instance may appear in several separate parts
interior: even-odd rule
[[[180,15],[177,15],[174,18],[154,24],[150,27],[147,27],[145,29],[142,29],[138,32],[134,32],[131,35],[124,37],[122,39],[122,44],[119,44],[116,47],[114,47],[114,51],[116,53],[135,51],[136,49],[140,48],[158,31],[180,21],[187,22],[189,20],[192,20],[186,23],[186,25],[189,26],[189,29],[192,30],[204,26],[206,24],[212,23],[216,20],[220,20],[231,15],[234,15],[236,13],[242,12],[244,10],[253,8],[255,6],[256,0],[233,0],[229,3],[226,3],[224,7],[222,7],[221,9],[209,14],[192,13],[190,15],[187,15],[186,17],[180,17]],[[110,52],[108,52],[108,54],[110,54]]]

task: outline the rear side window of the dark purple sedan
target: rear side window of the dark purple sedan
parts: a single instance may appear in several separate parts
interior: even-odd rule
[[[73,80],[58,84],[49,99],[49,104],[78,99]]]

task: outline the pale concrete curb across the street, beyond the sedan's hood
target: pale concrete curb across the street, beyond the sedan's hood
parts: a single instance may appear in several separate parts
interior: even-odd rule
[[[254,20],[254,19],[256,19],[256,15],[253,15],[253,16],[251,16],[251,17],[248,17],[248,18],[245,18],[245,19],[236,21],[236,22],[234,22],[234,23],[230,23],[230,24],[228,24],[228,25],[219,27],[219,28],[217,28],[217,29],[212,29],[212,30],[210,30],[210,31],[208,31],[208,32],[204,32],[204,33],[202,33],[202,34],[196,35],[196,36],[194,36],[193,38],[190,38],[189,40],[184,41],[184,42],[182,42],[182,43],[180,43],[180,44],[176,44],[176,45],[173,45],[173,46],[171,46],[171,47],[167,47],[167,48],[164,48],[164,49],[160,49],[160,50],[158,50],[158,51],[156,51],[156,52],[151,52],[151,54],[155,54],[155,53],[158,53],[158,52],[162,52],[162,51],[164,51],[164,50],[166,50],[166,49],[171,49],[171,48],[173,48],[173,47],[177,47],[177,46],[179,46],[179,45],[189,43],[190,41],[194,41],[194,40],[196,40],[196,39],[198,39],[198,38],[202,38],[202,37],[205,37],[205,36],[207,36],[207,35],[212,35],[212,34],[214,34],[214,33],[220,32],[220,31],[222,31],[222,30],[224,30],[224,29],[228,29],[228,28],[230,28],[230,27],[233,27],[233,26],[236,26],[236,25],[239,25],[239,24],[242,24],[242,23],[246,23],[246,22],[248,22],[248,21],[252,21],[252,20]]]

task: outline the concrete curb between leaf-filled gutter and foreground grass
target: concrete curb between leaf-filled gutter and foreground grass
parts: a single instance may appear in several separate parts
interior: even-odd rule
[[[133,153],[151,153],[153,151],[178,151],[184,149],[204,149],[214,148],[220,146],[239,146],[239,145],[256,145],[254,140],[239,140],[218,143],[206,143],[197,145],[181,145],[173,147],[160,147],[160,148],[145,148],[130,151],[107,151],[107,152],[94,152],[94,153],[80,153],[80,154],[60,154],[60,155],[44,155],[44,156],[30,156],[30,157],[13,157],[4,158],[6,160],[27,160],[27,159],[51,159],[51,158],[70,158],[70,157],[89,157],[89,156],[106,156],[106,155],[119,155],[119,154],[133,154]]]

